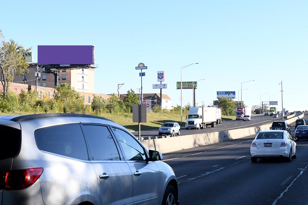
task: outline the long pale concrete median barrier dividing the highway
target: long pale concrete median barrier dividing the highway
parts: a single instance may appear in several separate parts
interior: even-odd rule
[[[304,114],[285,120],[288,124],[302,119]],[[270,130],[271,124],[264,124],[256,127],[240,128],[233,130],[207,132],[193,135],[175,136],[161,139],[142,140],[141,143],[151,150],[161,153],[174,152],[181,149],[199,147],[202,145],[223,142],[226,140],[238,139],[245,136],[255,135],[262,130]]]

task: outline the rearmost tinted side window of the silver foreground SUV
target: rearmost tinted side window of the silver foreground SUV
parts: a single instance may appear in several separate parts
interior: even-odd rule
[[[80,160],[89,160],[86,141],[79,124],[65,124],[35,131],[40,150]]]

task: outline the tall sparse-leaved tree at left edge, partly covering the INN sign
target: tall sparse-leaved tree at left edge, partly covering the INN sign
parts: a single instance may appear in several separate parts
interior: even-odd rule
[[[19,45],[13,39],[6,42],[0,30],[0,81],[3,87],[3,97],[6,96],[10,81],[14,79],[14,71],[17,73],[27,71],[29,64],[22,57],[22,54],[30,49],[24,49],[22,45]]]

